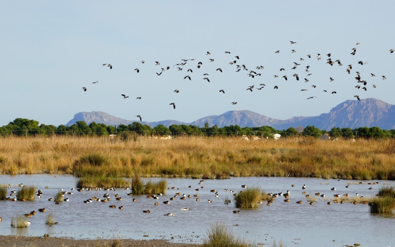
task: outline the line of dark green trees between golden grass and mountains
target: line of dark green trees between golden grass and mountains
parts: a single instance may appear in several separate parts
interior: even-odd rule
[[[240,127],[238,125],[230,125],[224,127],[218,127],[213,125],[209,127],[208,123],[204,124],[204,127],[198,127],[195,125],[185,124],[172,124],[166,127],[159,124],[155,127],[151,127],[147,124],[140,124],[134,122],[133,124],[119,124],[119,125],[106,125],[96,124],[94,122],[89,125],[84,121],[78,121],[76,124],[66,125],[46,125],[40,124],[35,120],[28,120],[17,118],[13,122],[9,122],[7,125],[0,127],[1,136],[36,136],[36,135],[71,135],[71,136],[104,136],[110,134],[130,135],[138,134],[143,136],[150,135],[204,135],[204,136],[259,136],[259,137],[273,137],[273,134],[280,134],[285,137],[293,136],[313,136],[320,137],[323,134],[327,134],[332,138],[392,138],[395,137],[395,129],[386,130],[379,127],[358,127],[358,128],[340,128],[333,127],[329,131],[319,129],[314,125],[308,125],[306,127],[298,126],[296,128],[289,127],[287,129],[275,129],[271,126],[261,127]]]

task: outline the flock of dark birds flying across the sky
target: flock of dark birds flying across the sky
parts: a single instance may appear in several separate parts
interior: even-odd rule
[[[297,42],[295,42],[295,41],[289,41],[289,42],[290,42],[290,45],[294,45],[294,44],[297,43]],[[359,42],[356,43],[356,45],[359,45],[359,44],[360,44]],[[354,56],[354,55],[356,54],[356,52],[357,52],[356,47],[352,48],[351,50],[352,50],[352,52],[350,53],[350,55]],[[277,50],[277,51],[275,51],[275,53],[278,54],[278,53],[280,53],[280,51]],[[296,50],[295,50],[295,49],[291,49],[291,53],[296,53]],[[390,49],[390,53],[394,53],[394,49]],[[231,52],[230,52],[230,51],[225,51],[225,54],[230,55]],[[209,51],[207,51],[206,56],[211,56],[211,53],[210,53]],[[343,64],[341,63],[340,59],[336,59],[336,60],[333,59],[333,60],[332,60],[332,57],[331,57],[332,54],[331,54],[331,53],[327,53],[327,54],[324,55],[324,56],[325,56],[325,58],[326,58],[326,64],[328,64],[329,66],[333,66],[335,63],[337,63],[338,66],[343,66]],[[319,61],[319,60],[321,60],[324,56],[321,56],[321,54],[318,53],[317,56],[316,56],[316,60]],[[311,58],[312,58],[312,55],[311,55],[311,54],[307,54],[306,57],[307,57],[306,59],[308,60],[308,59],[311,59]],[[240,72],[240,71],[245,70],[245,71],[248,72],[248,74],[246,74],[246,75],[247,75],[248,77],[250,77],[250,78],[257,78],[257,77],[260,77],[260,76],[261,76],[261,73],[258,73],[257,71],[254,71],[254,70],[249,70],[249,69],[247,69],[246,65],[240,64],[240,63],[239,63],[239,61],[240,61],[240,56],[238,56],[238,55],[232,56],[231,60],[232,60],[232,61],[230,61],[229,64],[236,67],[236,72]],[[160,68],[160,71],[159,71],[159,72],[156,72],[156,74],[157,74],[157,76],[161,76],[162,73],[165,73],[166,71],[170,70],[170,68],[172,68],[172,67],[174,67],[174,66],[177,66],[176,69],[177,69],[178,71],[183,71],[184,69],[187,71],[188,75],[184,76],[184,80],[192,81],[192,74],[193,74],[195,68],[194,68],[194,67],[189,67],[189,66],[187,66],[187,64],[190,65],[190,62],[192,62],[192,61],[195,61],[195,59],[182,59],[181,62],[179,62],[179,63],[177,63],[177,64],[174,64],[173,66],[165,66],[164,68]],[[305,61],[304,58],[299,58],[298,62],[293,62],[293,65],[292,65],[293,67],[291,68],[291,70],[296,70],[296,69],[298,69],[298,66],[300,66],[300,65],[301,65],[300,63],[302,63],[303,61]],[[215,62],[215,59],[209,57],[209,58],[208,58],[208,62],[209,62],[209,63],[213,63],[213,62]],[[143,61],[141,61],[141,63],[142,63],[142,64],[145,64],[145,61],[143,60]],[[365,64],[367,64],[367,62],[358,61],[357,64],[359,64],[359,65],[365,65]],[[108,63],[108,64],[105,63],[105,64],[102,64],[102,65],[103,65],[103,66],[107,66],[110,70],[113,68],[113,65],[110,64],[110,63]],[[155,66],[160,66],[160,62],[155,61]],[[195,64],[195,66],[196,66],[197,70],[200,70],[200,68],[202,68],[202,66],[203,66],[203,62],[202,62],[202,61],[197,62],[197,64]],[[188,68],[188,69],[187,69],[187,68]],[[306,75],[305,75],[306,77],[304,77],[304,82],[305,82],[305,83],[306,83],[306,82],[309,82],[309,79],[307,79],[307,78],[308,78],[309,76],[312,75],[312,73],[310,73],[310,68],[311,68],[310,65],[306,65],[306,66],[305,66],[305,73],[306,73]],[[262,71],[262,70],[265,69],[265,67],[262,66],[262,65],[258,65],[258,66],[255,66],[255,69],[256,69],[256,70],[259,70],[259,71]],[[141,70],[140,68],[135,68],[135,69],[134,69],[134,71],[135,71],[136,73],[140,73],[140,70]],[[185,71],[185,70],[184,70],[184,71]],[[345,71],[346,71],[348,74],[351,74],[352,70],[353,70],[353,65],[352,65],[352,64],[349,64],[349,65],[347,66],[347,68],[346,68]],[[215,71],[216,71],[216,72],[219,72],[219,73],[222,73],[222,72],[223,72],[222,68],[217,68]],[[279,71],[282,72],[282,71],[285,71],[285,69],[284,69],[284,68],[280,68]],[[207,82],[210,82],[209,74],[208,74],[208,73],[204,73],[204,74],[202,74],[202,75],[203,75],[202,80],[205,80],[205,81],[207,81]],[[375,77],[375,76],[376,76],[375,74],[370,73],[370,77]],[[278,75],[274,75],[274,78],[275,78],[275,79],[278,78],[278,77],[279,77]],[[300,79],[300,78],[299,78],[299,74],[297,74],[297,73],[292,74],[292,77],[295,78],[296,81],[299,81],[299,79]],[[288,81],[287,75],[283,75],[282,78],[283,78],[285,81]],[[387,79],[386,76],[382,76],[382,80],[386,80],[386,79]],[[357,88],[357,89],[361,88],[361,89],[363,89],[364,91],[367,90],[367,86],[366,86],[366,85],[367,85],[367,81],[362,79],[361,73],[358,72],[358,71],[356,71],[355,80],[356,80],[356,82],[358,83],[358,84],[356,84],[355,88]],[[333,82],[333,81],[335,81],[335,80],[334,80],[332,77],[330,77],[330,78],[329,78],[329,82]],[[98,83],[98,82],[96,81],[96,82],[92,82],[92,83]],[[361,83],[362,85],[360,85],[359,83]],[[262,90],[265,86],[266,86],[266,84],[260,83],[260,84],[259,84],[259,87],[255,87],[255,85],[251,85],[251,86],[248,86],[248,88],[246,88],[246,90],[249,90],[249,91],[251,91],[251,92],[253,91],[253,89]],[[311,85],[311,87],[316,88],[316,84]],[[372,87],[373,87],[373,88],[376,88],[376,84],[372,84]],[[87,90],[87,88],[86,88],[85,86],[83,86],[82,89],[83,89],[83,91],[86,91],[86,90]],[[278,89],[278,85],[275,85],[275,86],[274,86],[274,89]],[[300,89],[300,90],[301,90],[301,91],[307,91],[306,88],[303,88],[303,89]],[[328,92],[326,89],[324,89],[324,90],[322,90],[322,91],[323,91],[323,92]],[[174,92],[175,92],[175,93],[179,93],[180,90],[179,90],[179,89],[174,89]],[[225,89],[220,89],[219,92],[225,94]],[[336,92],[335,90],[333,90],[333,91],[330,91],[330,93],[331,93],[331,94],[335,94],[335,93],[337,93],[337,92]],[[126,94],[121,94],[121,96],[122,96],[124,99],[129,98],[129,96],[127,96]],[[313,98],[316,98],[316,97],[317,97],[317,96],[310,96],[310,97],[308,97],[307,99],[313,99]],[[356,95],[356,94],[355,94],[354,97],[355,97],[357,100],[360,100],[359,95]],[[141,99],[141,96],[136,97],[136,99]],[[231,102],[231,104],[232,104],[232,105],[236,105],[236,104],[237,104],[237,101]],[[172,105],[172,106],[173,106],[173,109],[176,109],[176,104],[175,104],[174,102],[170,103],[169,105]],[[142,121],[142,117],[141,117],[140,115],[137,115],[136,117],[138,117],[138,118],[140,119],[140,121]]]

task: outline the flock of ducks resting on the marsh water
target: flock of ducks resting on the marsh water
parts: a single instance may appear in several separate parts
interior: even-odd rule
[[[341,181],[341,179],[338,179],[338,181]],[[131,192],[131,190],[129,188],[76,188],[76,192],[75,188],[72,188],[69,192],[64,191],[63,189],[61,189],[62,191],[62,195],[63,198],[61,198],[61,200],[58,201],[62,201],[62,203],[59,202],[55,202],[55,205],[61,205],[63,203],[67,203],[67,202],[74,202],[74,203],[80,203],[80,204],[93,204],[93,203],[100,203],[101,205],[103,205],[104,207],[107,208],[118,208],[120,210],[123,210],[124,208],[134,208],[139,210],[141,213],[156,213],[159,215],[163,215],[160,214],[163,213],[163,208],[161,208],[161,210],[158,209],[158,207],[161,207],[159,205],[170,205],[170,204],[175,204],[179,207],[180,211],[190,211],[190,210],[206,210],[206,209],[202,209],[201,206],[197,206],[197,204],[204,204],[204,202],[208,203],[208,204],[212,204],[213,202],[216,203],[216,205],[218,206],[218,202],[223,202],[225,205],[231,204],[234,200],[231,200],[233,198],[233,196],[236,196],[237,194],[235,194],[235,190],[232,189],[221,189],[221,190],[217,190],[217,189],[207,189],[204,188],[203,186],[203,182],[204,180],[200,180],[197,185],[195,186],[188,186],[188,188],[177,188],[175,186],[173,187],[168,187],[166,190],[166,193],[169,195],[164,195],[161,193],[158,193],[157,195],[139,195],[140,197],[133,197],[133,193]],[[376,185],[379,182],[369,182],[369,185]],[[358,183],[356,183],[358,184]],[[359,182],[359,184],[363,184],[363,182]],[[22,184],[20,184],[22,185]],[[24,186],[24,185],[22,185]],[[339,186],[341,186],[339,184]],[[11,188],[11,186],[8,186],[9,188]],[[238,193],[243,193],[243,189],[247,189],[247,185],[243,184],[241,186],[238,186],[238,188],[240,189]],[[362,204],[367,204],[368,199],[364,199],[363,196],[360,196],[358,193],[355,194],[355,196],[350,196],[349,197],[349,193],[347,193],[347,191],[350,191],[350,185],[347,184],[346,186],[344,186],[344,184],[341,186],[344,189],[339,189],[342,194],[337,193],[337,194],[333,194],[330,193],[330,191],[336,191],[335,187],[332,188],[328,188],[327,192],[329,193],[329,195],[326,195],[324,193],[320,193],[320,192],[311,192],[312,195],[306,193],[306,191],[309,191],[309,188],[304,184],[303,186],[300,186],[300,189],[294,189],[295,185],[291,185],[290,186],[293,190],[293,194],[296,195],[295,197],[291,196],[291,191],[287,190],[286,193],[282,193],[282,192],[278,192],[278,193],[268,193],[268,199],[266,202],[267,206],[271,206],[272,204],[274,204],[276,201],[283,201],[285,203],[289,203],[289,202],[293,202],[296,204],[303,204],[302,200],[299,200],[301,196],[297,196],[298,193],[302,193],[302,195],[305,195],[306,197],[306,201],[310,202],[310,205],[314,205],[314,202],[318,201],[318,198],[321,198],[321,200],[326,201],[326,203],[328,205],[331,205],[332,203],[338,203],[340,202],[340,204],[344,204],[344,201],[346,202],[350,202],[353,204],[358,204],[362,203]],[[291,189],[289,188],[289,189]],[[45,187],[45,189],[48,189],[48,187]],[[190,193],[191,191],[195,191],[195,193],[197,194],[186,194],[186,193],[182,193],[181,191],[184,190],[187,193]],[[373,190],[373,187],[369,187],[367,190]],[[172,192],[175,191],[175,192]],[[16,191],[11,191],[10,197],[6,198],[6,201],[10,201],[10,202],[16,202],[18,203],[19,200],[16,200],[15,197],[13,197],[15,195]],[[201,195],[199,195],[198,193],[202,193]],[[346,193],[344,193],[346,192]],[[80,193],[80,194],[79,194]],[[314,195],[313,195],[314,193]],[[78,195],[78,198],[75,198],[75,195]],[[333,194],[333,196],[331,195]],[[85,200],[81,200],[81,196],[86,196]],[[299,194],[300,195],[300,194]],[[42,200],[41,198],[45,196],[45,193],[43,193],[41,190],[38,190],[36,192],[36,200]],[[66,198],[67,196],[67,198]],[[313,200],[312,198],[314,198],[316,196],[316,199]],[[376,195],[377,196],[377,195]],[[123,197],[123,199],[122,199]],[[283,200],[278,200],[277,198],[283,197]],[[113,201],[112,198],[115,198],[115,200]],[[231,198],[231,199],[230,199]],[[357,198],[359,198],[357,200]],[[79,202],[77,200],[80,200]],[[175,200],[181,200],[175,202]],[[298,200],[298,201],[297,201]],[[344,201],[343,201],[344,200]],[[24,200],[20,200],[20,201],[24,201]],[[51,206],[48,205],[47,203],[53,203],[54,199],[53,198],[48,198],[47,200],[45,199],[44,202],[42,202],[42,207],[40,208],[29,208],[27,209],[29,212],[28,213],[23,213],[22,215],[24,215],[25,217],[34,217],[34,215],[36,215],[36,210],[38,212],[45,212],[46,209],[45,207],[49,207],[51,210]],[[140,203],[135,204],[136,202],[140,201]],[[46,202],[46,203],[45,203]],[[195,202],[195,203],[193,203]],[[21,203],[25,203],[25,202],[21,202]],[[105,204],[107,203],[107,204]],[[115,203],[115,204],[114,204]],[[26,203],[25,203],[26,204]],[[259,201],[258,204],[263,204],[263,201]],[[194,206],[196,205],[196,206]],[[27,207],[31,207],[30,204],[26,204]],[[181,207],[180,207],[181,206]],[[137,207],[137,208],[136,208]],[[61,206],[60,206],[61,208]],[[200,208],[200,209],[199,209]],[[204,207],[205,208],[205,207]],[[225,210],[229,210],[230,213],[242,213],[242,210],[238,209],[238,210],[234,210],[234,207],[226,207],[228,209]],[[33,210],[32,210],[33,209]],[[52,208],[53,209],[53,208]],[[157,210],[158,209],[158,210]],[[110,209],[109,209],[110,210]],[[172,209],[170,210],[174,210],[174,207],[172,207]],[[164,216],[176,216],[176,212],[167,212],[164,214]],[[158,215],[158,216],[159,216]],[[1,215],[0,215],[1,216]],[[0,221],[2,220],[2,218],[0,217]],[[31,224],[30,221],[26,220],[26,226],[29,226]],[[57,224],[56,222],[54,224]]]

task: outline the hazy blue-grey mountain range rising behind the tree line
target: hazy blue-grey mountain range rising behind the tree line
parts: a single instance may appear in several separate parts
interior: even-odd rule
[[[74,115],[66,125],[75,124],[77,121],[84,121],[86,124],[95,122],[97,124],[118,125],[132,124],[132,120],[124,120],[105,112],[79,112]],[[332,127],[373,127],[382,129],[395,129],[395,105],[384,101],[367,98],[359,100],[346,100],[329,113],[323,113],[314,117],[292,117],[287,120],[272,119],[267,116],[251,112],[248,110],[229,111],[219,116],[207,116],[192,123],[183,123],[175,120],[164,120],[158,122],[141,122],[155,127],[158,124],[170,126],[172,124],[186,124],[203,127],[205,123],[209,126],[218,127],[239,125],[240,127],[272,126],[276,129],[286,129],[289,127],[314,125],[319,129],[330,130]]]

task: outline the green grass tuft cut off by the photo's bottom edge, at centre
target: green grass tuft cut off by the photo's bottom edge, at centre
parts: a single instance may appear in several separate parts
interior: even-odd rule
[[[203,247],[244,247],[244,243],[240,238],[228,228],[225,223],[215,223],[210,226],[207,231],[208,239],[203,240]]]

